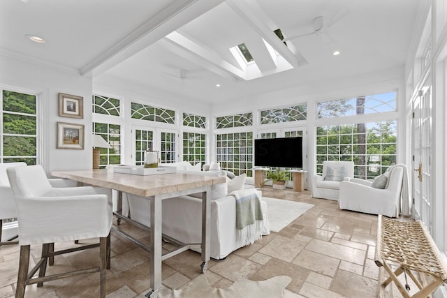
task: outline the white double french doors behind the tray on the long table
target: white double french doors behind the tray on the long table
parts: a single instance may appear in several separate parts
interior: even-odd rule
[[[132,163],[143,165],[147,148],[159,151],[161,163],[175,163],[179,157],[178,134],[172,129],[132,126]]]

